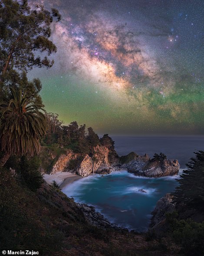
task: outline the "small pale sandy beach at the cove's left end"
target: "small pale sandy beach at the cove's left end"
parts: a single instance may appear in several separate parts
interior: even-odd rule
[[[55,180],[60,188],[63,188],[66,185],[71,184],[72,182],[82,178],[79,175],[72,174],[70,172],[57,172],[56,174],[44,174],[43,177],[48,184],[51,184],[52,181]]]

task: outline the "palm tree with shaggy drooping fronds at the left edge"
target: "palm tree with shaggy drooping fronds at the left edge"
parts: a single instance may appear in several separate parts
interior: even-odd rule
[[[3,157],[0,167],[11,155],[33,156],[39,154],[39,140],[46,133],[46,118],[40,110],[43,105],[35,102],[35,97],[25,89],[11,88],[10,100],[3,99],[3,120],[0,127],[0,147]]]

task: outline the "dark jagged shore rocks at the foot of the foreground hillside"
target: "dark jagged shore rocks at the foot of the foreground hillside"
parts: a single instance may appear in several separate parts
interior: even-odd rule
[[[82,210],[86,220],[91,223],[94,226],[97,226],[102,229],[122,229],[127,230],[121,227],[118,227],[117,225],[109,222],[107,218],[104,218],[104,216],[100,212],[96,212],[95,208],[92,205],[86,205],[86,204],[80,204],[77,203],[77,206],[80,210]]]

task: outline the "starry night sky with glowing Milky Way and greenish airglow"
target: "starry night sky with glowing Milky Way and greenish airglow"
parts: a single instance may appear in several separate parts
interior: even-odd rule
[[[39,2],[62,15],[53,68],[29,74],[48,112],[111,135],[204,133],[204,1]]]

